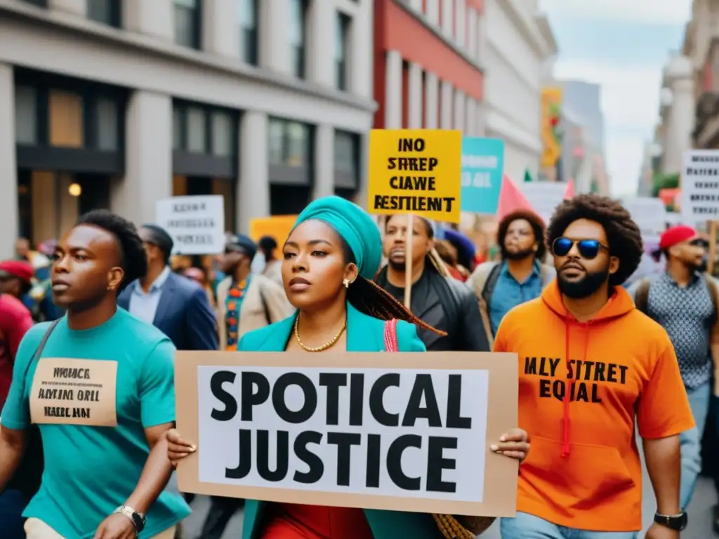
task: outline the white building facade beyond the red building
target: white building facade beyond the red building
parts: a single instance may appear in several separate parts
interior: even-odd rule
[[[505,142],[505,172],[539,174],[541,90],[557,43],[537,0],[485,0],[486,135]]]

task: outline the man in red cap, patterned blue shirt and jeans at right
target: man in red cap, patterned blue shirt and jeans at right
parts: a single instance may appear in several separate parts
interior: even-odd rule
[[[695,428],[679,436],[682,450],[682,489],[686,509],[702,470],[702,434],[712,395],[712,374],[719,374],[719,290],[712,277],[700,272],[706,256],[704,241],[689,226],[673,226],[659,239],[667,270],[636,282],[629,292],[636,307],[669,334],[679,361]],[[715,378],[716,379],[716,378]]]

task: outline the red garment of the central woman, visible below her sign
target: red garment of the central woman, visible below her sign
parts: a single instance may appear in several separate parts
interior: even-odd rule
[[[372,539],[365,512],[351,507],[272,503],[261,539]]]

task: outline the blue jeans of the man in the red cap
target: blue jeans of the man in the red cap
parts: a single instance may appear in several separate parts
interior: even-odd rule
[[[696,426],[679,435],[679,443],[682,447],[682,484],[679,490],[679,502],[682,509],[689,507],[697,477],[702,471],[702,436],[709,414],[711,395],[711,382],[706,382],[693,390],[687,390],[689,406],[692,409]]]

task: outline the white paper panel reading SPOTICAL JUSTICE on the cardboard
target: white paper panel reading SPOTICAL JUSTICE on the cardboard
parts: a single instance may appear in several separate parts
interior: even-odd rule
[[[197,371],[201,482],[482,502],[485,370]]]

